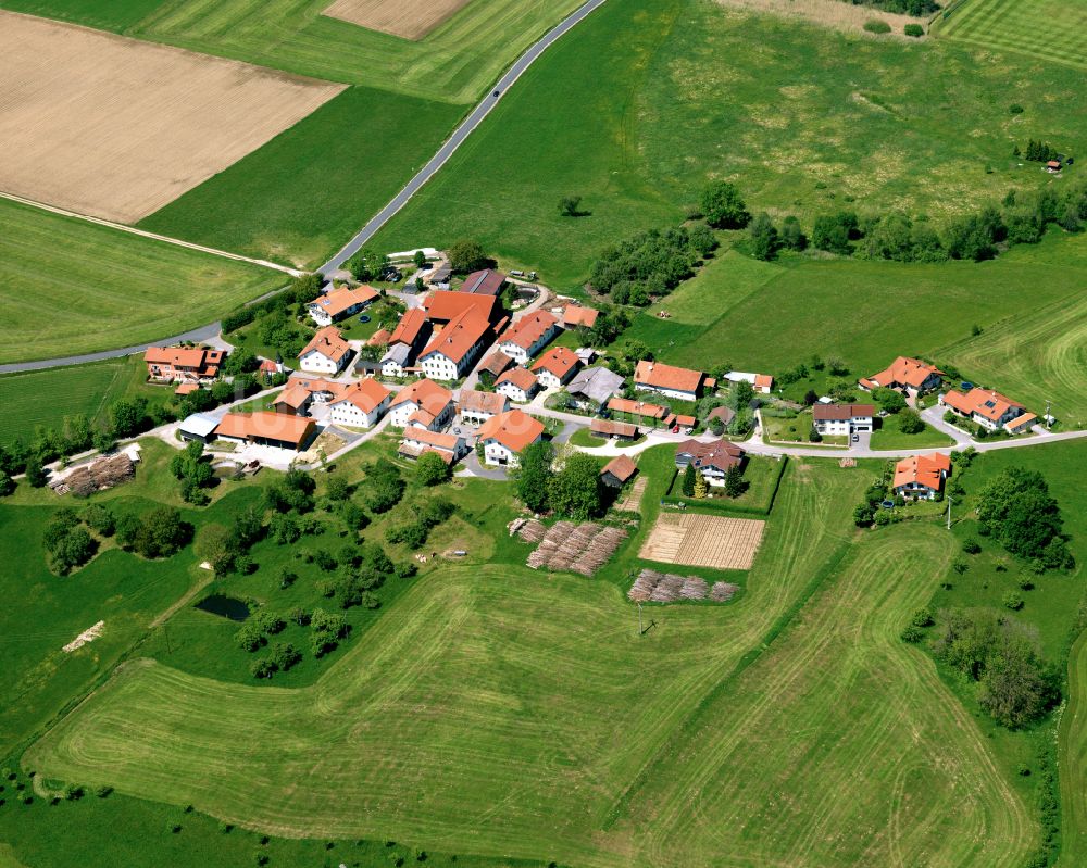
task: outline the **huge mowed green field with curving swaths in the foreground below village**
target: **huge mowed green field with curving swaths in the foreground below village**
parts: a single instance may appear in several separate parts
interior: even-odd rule
[[[448,567],[312,687],[134,661],[24,766],[282,834],[445,852],[1016,865],[1027,808],[897,638],[950,543],[920,526],[859,537],[840,503],[870,481],[790,465],[742,599],[653,607],[644,637],[611,582]]]

